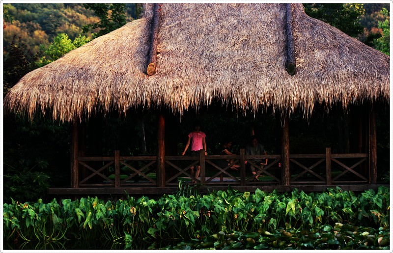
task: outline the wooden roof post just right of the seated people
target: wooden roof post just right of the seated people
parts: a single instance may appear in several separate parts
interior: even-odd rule
[[[289,114],[285,112],[281,126],[281,181],[282,185],[289,185],[291,173],[289,171]]]

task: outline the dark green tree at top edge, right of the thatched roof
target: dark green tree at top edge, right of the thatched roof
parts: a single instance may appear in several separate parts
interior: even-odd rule
[[[362,3],[304,3],[304,6],[310,17],[326,22],[352,37],[364,31],[359,23],[359,17],[365,14]]]

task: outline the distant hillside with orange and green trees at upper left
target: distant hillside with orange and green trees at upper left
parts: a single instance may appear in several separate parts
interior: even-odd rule
[[[59,33],[66,33],[71,40],[79,34],[91,36],[91,32],[83,32],[82,28],[100,20],[82,3],[7,3],[4,7],[12,17],[12,22],[4,22],[4,56],[8,55],[14,35],[21,37],[21,42],[36,54],[41,44],[48,46]],[[135,3],[127,3],[126,11],[127,22],[137,18]]]

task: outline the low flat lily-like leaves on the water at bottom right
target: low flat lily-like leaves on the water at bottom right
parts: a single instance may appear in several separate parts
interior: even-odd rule
[[[220,231],[161,250],[389,250],[389,243],[389,229],[336,223],[307,230]]]

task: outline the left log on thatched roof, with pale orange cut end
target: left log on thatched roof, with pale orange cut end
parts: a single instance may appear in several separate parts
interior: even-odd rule
[[[147,65],[147,75],[154,75],[157,67],[157,44],[158,44],[158,25],[160,22],[161,4],[154,3],[153,20],[151,25],[151,40],[149,50],[149,64]]]

